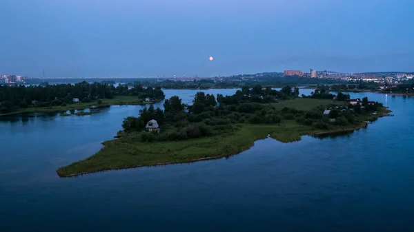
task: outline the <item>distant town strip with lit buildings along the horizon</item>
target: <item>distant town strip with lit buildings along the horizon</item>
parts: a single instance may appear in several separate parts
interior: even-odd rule
[[[44,76],[44,74],[43,74]],[[414,72],[364,72],[364,73],[342,73],[342,72],[332,72],[332,71],[316,71],[309,70],[309,72],[303,72],[302,70],[284,70],[284,72],[264,72],[259,74],[239,74],[232,76],[215,76],[215,77],[199,77],[191,76],[186,77],[183,75],[181,77],[172,76],[172,77],[159,77],[159,76],[106,76],[106,77],[84,77],[84,78],[73,78],[73,77],[43,77],[43,78],[34,78],[28,76],[19,76],[15,74],[10,75],[0,75],[1,84],[36,84],[42,82],[72,82],[72,81],[99,81],[99,80],[132,80],[132,79],[145,79],[153,82],[161,81],[199,81],[199,80],[213,80],[214,82],[224,82],[224,81],[243,81],[248,79],[259,79],[259,78],[277,78],[277,77],[304,77],[304,78],[319,78],[319,79],[330,79],[337,81],[364,81],[364,82],[374,82],[374,83],[387,83],[387,84],[399,84],[404,83],[404,81],[411,81],[414,76]],[[119,81],[121,82],[121,81]]]

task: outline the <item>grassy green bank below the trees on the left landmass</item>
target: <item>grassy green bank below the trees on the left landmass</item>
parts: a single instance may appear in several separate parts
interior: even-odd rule
[[[68,110],[82,110],[89,108],[99,108],[99,107],[109,107],[110,105],[146,105],[144,104],[144,99],[137,96],[115,96],[112,99],[100,99],[101,102],[97,103],[72,103],[66,106],[52,106],[52,107],[29,107],[26,109],[21,109],[16,112],[10,112],[8,114],[0,114],[0,116],[10,116],[15,114],[24,114],[24,113],[54,113],[54,112],[66,112]],[[163,99],[156,99],[152,103],[159,103]]]

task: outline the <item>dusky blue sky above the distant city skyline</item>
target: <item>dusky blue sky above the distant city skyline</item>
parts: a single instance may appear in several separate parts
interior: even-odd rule
[[[227,76],[310,68],[414,72],[414,1],[0,1],[0,74]]]

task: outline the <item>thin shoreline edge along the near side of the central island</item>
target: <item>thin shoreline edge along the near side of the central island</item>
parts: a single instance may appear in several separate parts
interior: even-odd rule
[[[382,118],[382,117],[385,117],[385,116],[388,116],[388,113],[384,116],[380,116],[379,118]],[[311,133],[311,134],[303,134],[302,136],[340,135],[344,132],[353,132],[353,131],[357,131],[359,129],[363,129],[363,128],[366,128],[366,127],[368,127],[368,123],[362,123],[358,127],[353,127],[353,128],[348,128],[348,129],[333,129],[333,130],[330,130],[330,131],[322,131],[322,132],[315,132],[315,133]],[[299,140],[290,141],[290,142],[283,142],[281,140],[277,140],[276,138],[273,138],[273,139],[277,140],[279,143],[294,143],[294,142],[299,142],[300,140],[302,140],[302,136],[300,136]],[[272,138],[270,136],[270,134],[268,134],[267,138],[269,138],[269,137]],[[66,174],[66,175],[60,175],[59,171],[58,171],[59,169],[56,172],[57,172],[57,175],[61,178],[70,178],[70,177],[83,176],[83,175],[92,174],[92,173],[99,173],[99,172],[102,172],[102,171],[117,171],[117,170],[122,170],[122,169],[135,169],[135,168],[139,168],[139,167],[157,167],[157,166],[163,166],[163,165],[179,165],[179,164],[186,164],[186,163],[206,161],[206,160],[218,160],[218,159],[221,159],[221,158],[228,158],[228,157],[231,157],[231,156],[237,156],[238,154],[241,154],[243,151],[246,151],[246,150],[250,149],[251,147],[253,147],[255,145],[256,141],[262,140],[262,139],[265,139],[265,138],[258,138],[257,140],[255,140],[253,142],[253,144],[248,145],[248,147],[245,147],[242,150],[232,152],[231,154],[221,155],[221,156],[197,158],[197,159],[191,159],[191,160],[182,160],[182,161],[177,161],[177,162],[158,162],[158,163],[148,164],[148,165],[132,165],[132,166],[124,166],[124,167],[112,167],[112,168],[101,169],[99,171],[83,171],[81,173],[72,173],[72,174]]]

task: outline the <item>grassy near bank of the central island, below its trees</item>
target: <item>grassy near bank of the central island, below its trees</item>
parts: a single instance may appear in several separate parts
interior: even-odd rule
[[[391,112],[383,110],[382,114],[364,116],[364,120],[376,120]],[[366,125],[360,123],[357,126],[323,130],[299,125],[294,120],[284,120],[277,125],[239,124],[237,131],[221,136],[151,143],[138,142],[135,134],[130,134],[104,142],[104,147],[97,154],[61,167],[57,174],[70,177],[107,170],[213,160],[237,155],[252,147],[255,141],[269,136],[282,143],[292,143],[301,140],[304,135],[341,134],[364,128]]]

